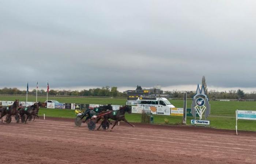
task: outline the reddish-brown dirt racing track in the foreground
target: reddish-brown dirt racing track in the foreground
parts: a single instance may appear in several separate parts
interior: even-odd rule
[[[14,120],[14,119],[13,119]],[[109,130],[47,118],[0,124],[1,163],[256,163],[256,133],[120,124]],[[97,125],[98,127],[98,125]],[[111,127],[111,126],[110,126]]]

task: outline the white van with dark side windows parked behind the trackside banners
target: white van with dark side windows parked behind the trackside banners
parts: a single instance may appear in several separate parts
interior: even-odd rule
[[[140,97],[136,101],[127,101],[132,106],[133,113],[142,113],[142,110],[151,110],[152,114],[170,115],[170,108],[175,108],[168,99],[163,97]]]

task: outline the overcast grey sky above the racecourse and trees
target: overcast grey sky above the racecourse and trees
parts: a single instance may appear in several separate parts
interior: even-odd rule
[[[253,90],[255,16],[255,0],[0,0],[0,88]]]

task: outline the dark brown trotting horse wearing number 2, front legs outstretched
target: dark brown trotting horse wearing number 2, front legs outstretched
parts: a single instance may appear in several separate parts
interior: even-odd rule
[[[120,107],[119,110],[112,110],[111,113],[104,115],[104,120],[101,122],[101,125],[99,125],[99,128],[103,125],[106,124],[108,119],[115,120],[114,125],[112,126],[111,130],[116,126],[118,121],[124,121],[127,124],[131,125],[132,127],[135,127],[134,125],[130,124],[126,119],[125,119],[125,112],[128,112],[129,114],[132,113],[132,109],[130,106],[123,106]],[[97,130],[99,130],[99,128]]]

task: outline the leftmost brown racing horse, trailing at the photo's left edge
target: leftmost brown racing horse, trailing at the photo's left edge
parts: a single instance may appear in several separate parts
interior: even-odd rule
[[[19,100],[16,99],[12,105],[1,108],[1,116],[0,116],[1,122],[3,123],[3,117],[6,114],[7,114],[7,116],[5,118],[5,122],[7,124],[9,124],[12,121],[13,115],[15,115],[15,116],[19,115],[18,114],[18,106],[19,106]],[[18,123],[18,121],[17,121],[17,123]]]

